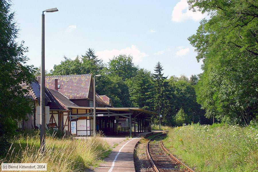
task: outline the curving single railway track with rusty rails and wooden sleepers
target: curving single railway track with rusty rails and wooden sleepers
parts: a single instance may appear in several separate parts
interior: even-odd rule
[[[159,134],[151,138],[146,144],[147,155],[156,172],[195,172],[170,154],[162,144],[166,134]]]

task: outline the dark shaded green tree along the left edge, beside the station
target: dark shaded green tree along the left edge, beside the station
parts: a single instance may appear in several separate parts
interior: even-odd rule
[[[14,13],[9,1],[0,1],[0,154],[5,153],[9,139],[15,134],[17,120],[32,111],[26,84],[34,79],[33,66],[28,61],[27,47],[16,42],[18,35]]]

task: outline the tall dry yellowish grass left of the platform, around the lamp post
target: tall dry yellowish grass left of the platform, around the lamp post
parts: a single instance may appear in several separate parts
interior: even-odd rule
[[[46,138],[44,155],[38,135],[19,136],[0,163],[47,163],[47,171],[83,171],[97,166],[111,149],[100,135],[87,139]]]

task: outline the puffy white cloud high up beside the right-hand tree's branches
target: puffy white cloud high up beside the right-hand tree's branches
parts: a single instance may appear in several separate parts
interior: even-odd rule
[[[184,12],[183,12],[184,11]],[[193,12],[188,9],[188,3],[187,0],[180,0],[178,2],[173,11],[172,11],[172,21],[175,22],[181,22],[187,19],[192,19],[194,21],[200,21],[204,17],[206,17],[207,14],[202,14],[201,11]]]

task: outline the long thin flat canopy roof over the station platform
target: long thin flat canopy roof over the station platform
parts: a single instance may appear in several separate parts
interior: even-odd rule
[[[73,109],[93,109],[93,107],[78,107],[78,106],[69,106]],[[142,109],[140,107],[96,107],[96,110],[113,110],[113,111],[124,111],[124,112],[142,112],[144,114],[157,115],[156,112],[151,112],[149,110]]]

